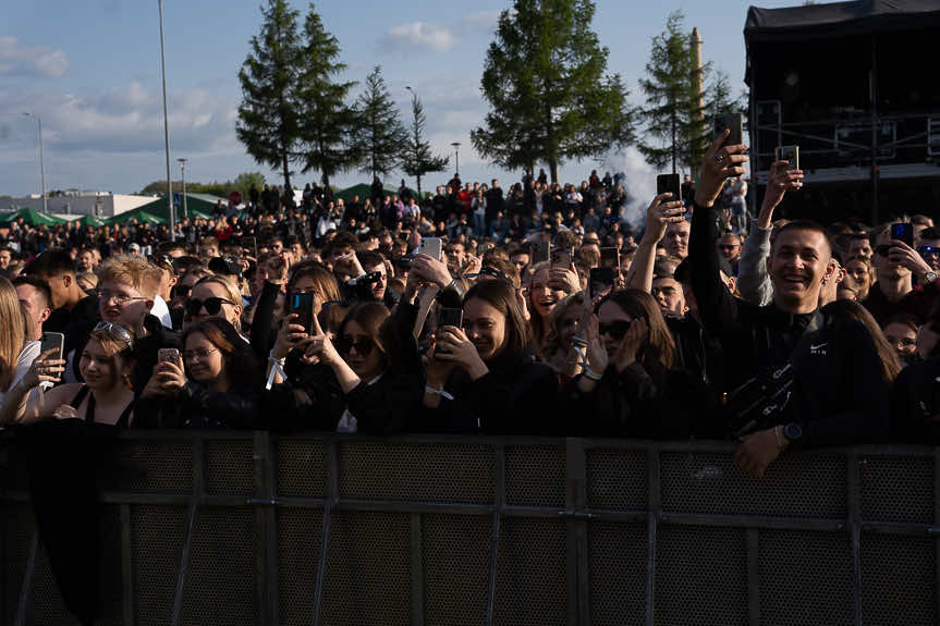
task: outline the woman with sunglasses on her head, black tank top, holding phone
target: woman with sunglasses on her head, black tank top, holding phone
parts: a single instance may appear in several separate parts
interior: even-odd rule
[[[134,336],[119,323],[99,322],[88,336],[78,361],[84,383],[62,384],[44,393],[29,393],[42,381],[58,381],[64,360],[48,358],[33,363],[29,373],[12,398],[20,403],[15,420],[78,419],[87,424],[125,428],[134,420]],[[12,391],[12,390],[11,390]],[[28,400],[23,400],[28,394]]]

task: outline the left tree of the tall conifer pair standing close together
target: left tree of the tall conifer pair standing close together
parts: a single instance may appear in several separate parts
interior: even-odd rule
[[[291,184],[290,161],[298,140],[298,109],[294,88],[297,65],[297,16],[286,0],[268,0],[260,33],[242,69],[242,102],[235,133],[258,163],[280,168]]]

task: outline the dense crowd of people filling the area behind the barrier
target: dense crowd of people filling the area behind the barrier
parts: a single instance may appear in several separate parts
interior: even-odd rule
[[[734,439],[755,476],[938,441],[940,230],[778,219],[785,161],[748,214],[723,139],[642,229],[597,172],[422,201],[266,187],[173,237],[13,223],[0,424]]]

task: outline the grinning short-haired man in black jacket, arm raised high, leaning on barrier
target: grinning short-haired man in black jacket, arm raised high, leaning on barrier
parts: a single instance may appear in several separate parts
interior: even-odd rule
[[[877,384],[882,380],[880,360],[869,335],[853,326],[846,336],[859,345],[840,349],[834,339],[845,334],[847,322],[840,322],[835,330],[823,328],[825,319],[817,311],[819,292],[834,277],[829,262],[831,244],[818,224],[791,222],[778,232],[767,261],[773,284],[771,304],[756,307],[735,299],[725,289],[719,274],[718,225],[711,208],[724,181],[744,174],[747,161],[746,146],[722,146],[727,136],[717,138],[706,152],[696,185],[689,243],[692,287],[706,331],[725,348],[725,393],[741,389],[755,375],[781,371],[788,365],[794,370],[792,394],[782,394],[781,406],[769,407],[778,412],[772,426],[764,424],[761,430],[743,437],[735,454],[738,467],[762,476],[791,445],[853,443],[887,435],[887,384]],[[797,348],[799,358],[794,359]],[[864,382],[853,383],[854,389],[840,386],[838,392],[820,389],[831,382],[823,372],[847,366],[849,358],[864,370]]]

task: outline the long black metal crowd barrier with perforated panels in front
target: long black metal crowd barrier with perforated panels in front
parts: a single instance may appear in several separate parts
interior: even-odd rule
[[[129,433],[101,624],[937,624],[940,449]],[[15,441],[4,624],[70,624]]]

